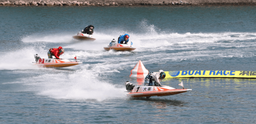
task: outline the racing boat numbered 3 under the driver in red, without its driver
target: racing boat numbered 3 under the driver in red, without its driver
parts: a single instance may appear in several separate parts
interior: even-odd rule
[[[37,65],[38,67],[70,67],[82,63],[77,61],[70,61],[68,59],[41,59],[38,55],[35,55],[35,59],[36,63],[34,63],[34,65]]]

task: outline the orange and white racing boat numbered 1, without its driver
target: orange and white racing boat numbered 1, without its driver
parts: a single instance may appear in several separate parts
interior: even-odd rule
[[[169,96],[174,94],[185,93],[192,89],[175,89],[173,87],[162,85],[159,86],[134,86],[130,82],[126,82],[127,96],[131,97],[146,97],[151,96]]]

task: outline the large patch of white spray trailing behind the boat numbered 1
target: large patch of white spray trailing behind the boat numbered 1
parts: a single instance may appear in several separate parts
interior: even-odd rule
[[[49,80],[50,79],[50,80]],[[98,73],[92,70],[78,70],[72,74],[56,73],[45,74],[26,79],[25,85],[35,85],[39,95],[56,99],[96,99],[106,100],[126,98],[124,88],[117,88],[112,83],[98,80]]]

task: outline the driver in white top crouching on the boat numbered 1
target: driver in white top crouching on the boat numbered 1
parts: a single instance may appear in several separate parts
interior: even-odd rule
[[[150,72],[145,77],[144,85],[145,86],[153,86],[153,81],[155,81],[154,86],[161,87],[160,81],[162,81],[162,79],[164,79],[165,76],[166,75],[163,70],[159,70],[159,72]],[[160,81],[159,81],[159,79],[160,79]]]

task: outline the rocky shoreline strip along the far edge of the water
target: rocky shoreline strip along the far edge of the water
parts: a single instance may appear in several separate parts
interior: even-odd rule
[[[256,5],[256,0],[0,0],[0,6],[206,6]]]

